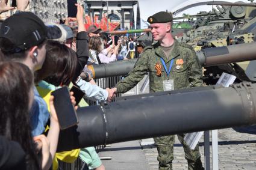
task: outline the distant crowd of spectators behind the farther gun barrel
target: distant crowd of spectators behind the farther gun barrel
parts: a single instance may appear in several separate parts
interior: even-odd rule
[[[139,58],[140,51],[137,48],[145,47],[139,41],[136,43],[133,36],[111,36],[95,25],[90,26],[88,32],[90,32],[89,61],[95,64]]]

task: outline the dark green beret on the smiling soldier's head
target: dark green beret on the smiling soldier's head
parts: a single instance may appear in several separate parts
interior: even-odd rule
[[[159,13],[155,13],[154,15],[148,17],[149,23],[166,23],[172,22],[172,14],[161,11]]]

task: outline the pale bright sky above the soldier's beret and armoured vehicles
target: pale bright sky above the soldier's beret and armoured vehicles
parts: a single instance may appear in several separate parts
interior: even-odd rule
[[[195,2],[205,2],[203,0],[138,0],[139,7],[140,7],[140,19],[142,28],[146,27],[146,24],[142,22],[142,20],[147,20],[149,16],[152,14],[157,13],[159,11],[175,11],[178,8],[184,7],[188,4],[193,4]],[[226,2],[237,2],[234,0],[225,0]],[[249,2],[248,0],[239,0],[240,2]],[[199,11],[210,11],[211,5],[200,5],[198,7],[189,8],[178,14],[176,17],[182,16],[183,13],[186,14],[197,14]]]

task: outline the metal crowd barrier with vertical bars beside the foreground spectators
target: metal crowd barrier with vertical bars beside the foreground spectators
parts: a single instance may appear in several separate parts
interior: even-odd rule
[[[95,79],[96,84],[101,88],[113,88],[115,87],[116,83],[119,82],[122,79],[122,76],[116,76],[116,77],[107,77],[107,78],[101,78],[101,79]],[[120,97],[120,94],[117,94],[116,97]],[[89,106],[93,105],[99,105],[99,102],[95,102],[93,100],[89,100],[86,97],[84,98]],[[114,102],[114,101],[113,101]],[[105,145],[98,145],[95,146],[96,152],[98,153],[102,149],[105,148]],[[78,157],[74,163],[65,163],[58,161],[59,163],[59,169],[61,170],[87,170],[86,164],[83,162],[83,160]]]

